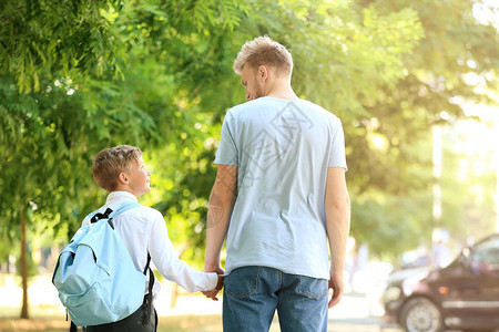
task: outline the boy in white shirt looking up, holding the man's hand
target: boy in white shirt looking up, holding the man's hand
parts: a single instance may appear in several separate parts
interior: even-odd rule
[[[100,212],[108,208],[115,210],[124,203],[136,203],[140,196],[151,190],[151,173],[145,168],[142,151],[135,146],[119,145],[104,148],[93,160],[92,174],[96,184],[110,193]],[[90,218],[86,217],[83,226],[89,222]],[[163,277],[179,283],[190,292],[222,288],[222,276],[196,271],[179,260],[160,211],[140,206],[116,216],[113,218],[113,224],[139,271],[144,271],[149,253]],[[149,276],[146,280],[144,294],[149,289]],[[160,283],[154,282],[153,298],[160,288]],[[212,299],[217,300],[215,297]],[[128,318],[114,323],[86,326],[86,331],[156,331],[157,315],[153,309],[153,303],[144,297],[143,305]]]

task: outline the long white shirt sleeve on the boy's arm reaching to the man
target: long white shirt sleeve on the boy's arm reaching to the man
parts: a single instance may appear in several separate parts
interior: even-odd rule
[[[160,273],[183,287],[189,292],[208,291],[216,287],[215,272],[205,273],[189,267],[180,260],[169,238],[163,216],[157,212],[149,235],[149,252]]]

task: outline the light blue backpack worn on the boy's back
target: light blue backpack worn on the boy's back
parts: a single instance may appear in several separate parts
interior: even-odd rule
[[[144,272],[138,271],[112,224],[113,217],[139,206],[132,203],[115,211],[90,214],[91,222],[77,231],[59,256],[52,283],[75,325],[116,322],[143,303],[151,257]]]

